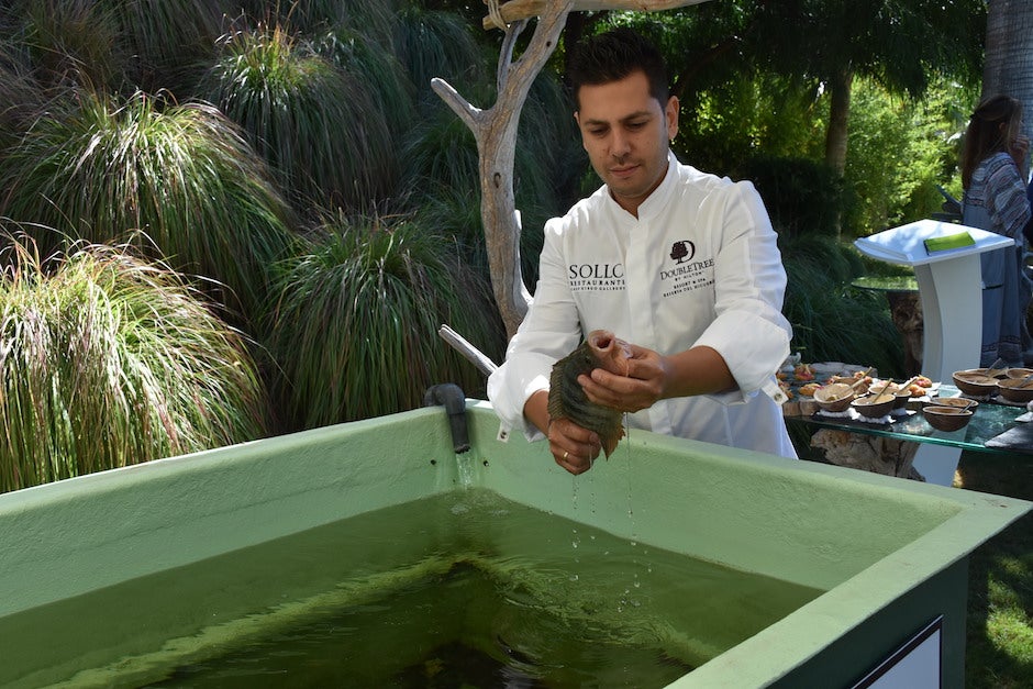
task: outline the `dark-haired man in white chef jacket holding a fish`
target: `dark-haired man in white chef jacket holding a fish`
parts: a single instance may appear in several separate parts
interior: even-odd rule
[[[592,330],[632,343],[627,376],[600,368],[589,400],[627,426],[796,457],[775,398],[789,354],[786,271],[760,197],[680,164],[678,99],[658,52],[618,29],[569,69],[575,119],[604,185],[545,225],[531,308],[488,379],[503,429],[547,436],[559,466],[591,468],[596,433],[547,412],[553,364]]]

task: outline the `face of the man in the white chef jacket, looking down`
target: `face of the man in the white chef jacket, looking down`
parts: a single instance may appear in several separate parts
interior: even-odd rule
[[[578,91],[581,143],[592,167],[621,208],[637,215],[638,204],[667,173],[667,145],[678,133],[678,99],[665,105],[649,96],[645,73],[635,71]]]

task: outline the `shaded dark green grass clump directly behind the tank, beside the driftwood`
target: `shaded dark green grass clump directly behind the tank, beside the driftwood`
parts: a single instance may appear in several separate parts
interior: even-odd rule
[[[485,279],[447,242],[404,219],[337,214],[285,262],[270,344],[293,429],[420,407],[426,389],[485,380],[437,335],[442,323],[500,359],[504,332]]]

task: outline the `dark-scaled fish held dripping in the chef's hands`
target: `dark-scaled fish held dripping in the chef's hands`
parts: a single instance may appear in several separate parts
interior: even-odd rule
[[[553,365],[548,381],[548,415],[569,419],[582,429],[595,431],[607,457],[624,436],[622,412],[589,401],[577,381],[581,374],[602,368],[617,376],[627,375],[631,347],[606,330],[593,330],[581,345]]]

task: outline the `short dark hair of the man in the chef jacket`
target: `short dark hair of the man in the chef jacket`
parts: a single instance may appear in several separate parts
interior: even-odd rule
[[[664,57],[655,45],[631,29],[614,29],[578,43],[568,63],[567,79],[578,100],[582,86],[619,81],[635,71],[645,73],[649,96],[660,107],[666,105],[670,91]]]

